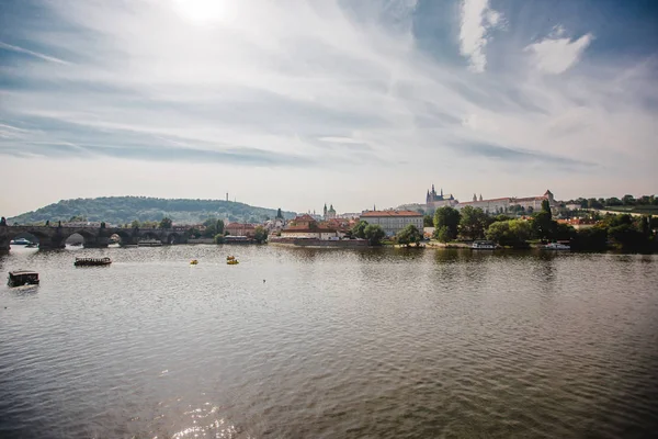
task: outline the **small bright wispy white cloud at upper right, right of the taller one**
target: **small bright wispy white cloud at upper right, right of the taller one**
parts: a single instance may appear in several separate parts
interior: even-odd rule
[[[537,70],[554,75],[567,71],[578,63],[585,49],[594,40],[592,34],[585,34],[576,41],[560,38],[564,33],[564,27],[555,27],[549,37],[525,47],[525,50],[532,54],[532,61]]]

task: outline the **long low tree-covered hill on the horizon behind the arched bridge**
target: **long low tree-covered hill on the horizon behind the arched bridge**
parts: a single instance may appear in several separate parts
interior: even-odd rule
[[[9,224],[35,224],[46,221],[68,221],[73,216],[88,221],[103,221],[107,224],[125,224],[134,219],[139,222],[160,221],[164,216],[178,224],[198,224],[208,217],[231,222],[261,223],[276,216],[275,209],[253,207],[245,203],[224,200],[155,199],[148,196],[102,196],[98,199],[61,200],[34,212],[27,212],[13,218]],[[294,212],[283,212],[292,218]]]

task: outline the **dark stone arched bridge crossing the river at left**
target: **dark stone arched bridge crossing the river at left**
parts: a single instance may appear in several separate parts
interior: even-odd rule
[[[0,251],[9,251],[10,241],[22,234],[37,237],[42,249],[64,248],[73,234],[84,238],[84,247],[107,247],[110,238],[117,235],[121,245],[136,245],[141,239],[156,239],[162,244],[185,244],[185,228],[123,228],[123,227],[67,227],[63,226],[0,226]]]

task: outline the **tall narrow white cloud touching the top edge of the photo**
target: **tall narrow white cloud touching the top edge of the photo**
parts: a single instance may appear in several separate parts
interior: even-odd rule
[[[487,66],[488,33],[501,25],[502,15],[489,7],[489,0],[463,0],[461,13],[460,53],[468,58],[472,71],[483,72]]]

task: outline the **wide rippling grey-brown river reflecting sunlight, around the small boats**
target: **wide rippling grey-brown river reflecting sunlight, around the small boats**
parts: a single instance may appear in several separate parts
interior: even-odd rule
[[[114,263],[76,269],[76,256]],[[42,284],[0,286],[1,438],[658,430],[657,256],[171,246],[0,257],[3,275],[19,268]]]

